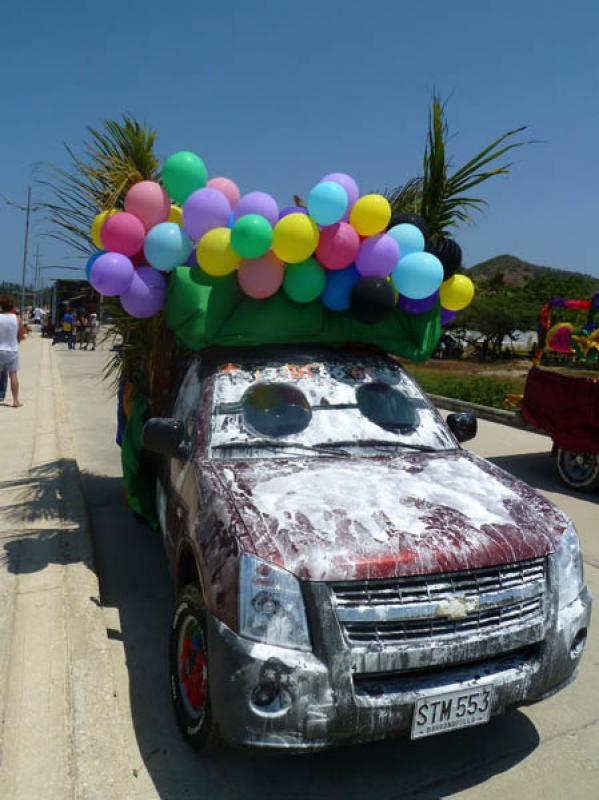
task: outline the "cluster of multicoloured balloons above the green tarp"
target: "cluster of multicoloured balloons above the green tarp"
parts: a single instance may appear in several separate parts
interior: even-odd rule
[[[183,265],[216,278],[236,271],[241,291],[256,300],[278,291],[299,304],[320,298],[330,311],[351,310],[366,324],[396,306],[422,314],[437,304],[445,323],[474,294],[459,274],[456,242],[430,241],[417,214],[392,219],[385,197],[360,196],[355,180],[340,172],[313,186],[306,208],[280,210],[265,192],[242,196],[229,178],[208,180],[194,153],[175,153],[161,183],[141,181],[123,210],[97,215],[92,238],[99,251],[87,264],[90,282],[119,295],[135,317],[160,311],[165,274]]]

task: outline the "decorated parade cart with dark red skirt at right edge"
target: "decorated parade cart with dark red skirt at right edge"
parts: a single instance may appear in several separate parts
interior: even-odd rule
[[[564,320],[567,314],[584,321]],[[599,488],[599,294],[553,298],[541,310],[538,332],[520,413],[553,440],[564,483],[593,491]]]

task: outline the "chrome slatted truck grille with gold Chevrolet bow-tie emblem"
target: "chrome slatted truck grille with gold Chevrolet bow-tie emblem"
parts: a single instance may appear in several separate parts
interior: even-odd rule
[[[331,583],[339,622],[354,647],[439,644],[500,634],[544,619],[544,558],[427,577]]]

